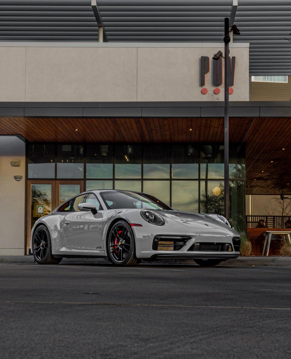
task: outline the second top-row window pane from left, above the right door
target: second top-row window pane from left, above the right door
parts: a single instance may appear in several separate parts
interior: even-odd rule
[[[83,162],[83,145],[57,145],[57,178],[83,178]]]

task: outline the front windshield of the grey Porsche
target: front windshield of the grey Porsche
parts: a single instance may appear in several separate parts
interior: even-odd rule
[[[144,194],[123,191],[106,191],[100,193],[108,209],[121,208],[147,208],[158,210],[170,210],[171,208],[151,196],[151,199]]]

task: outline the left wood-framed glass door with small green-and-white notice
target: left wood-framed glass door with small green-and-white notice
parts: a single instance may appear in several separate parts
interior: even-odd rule
[[[29,254],[30,233],[34,223],[49,214],[55,207],[55,181],[27,181],[27,241],[26,254]]]

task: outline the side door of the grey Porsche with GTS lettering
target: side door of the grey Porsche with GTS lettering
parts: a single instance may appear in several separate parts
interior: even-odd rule
[[[93,203],[98,212],[93,214],[91,211],[78,210],[78,204],[86,202]],[[103,213],[104,210],[93,193],[76,197],[70,211],[62,220],[63,233],[69,246],[80,251],[104,251],[105,248],[102,248]]]

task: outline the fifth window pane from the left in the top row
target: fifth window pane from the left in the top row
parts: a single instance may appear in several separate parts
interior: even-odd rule
[[[170,178],[170,146],[167,144],[144,145],[143,177]]]

